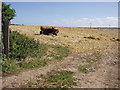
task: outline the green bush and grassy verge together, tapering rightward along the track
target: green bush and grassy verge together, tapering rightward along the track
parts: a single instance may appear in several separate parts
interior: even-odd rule
[[[49,50],[52,51],[49,52]],[[66,46],[47,45],[34,41],[16,31],[10,33],[10,51],[8,58],[3,54],[3,73],[17,73],[48,65],[48,62],[62,60],[69,53]],[[44,58],[45,57],[45,58]],[[52,57],[51,60],[48,57]]]

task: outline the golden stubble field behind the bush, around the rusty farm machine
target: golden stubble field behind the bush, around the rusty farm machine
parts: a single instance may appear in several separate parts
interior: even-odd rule
[[[40,26],[11,25],[12,31],[18,31],[28,37],[48,44],[69,46],[72,51],[100,51],[117,52],[118,29],[93,29],[56,27],[59,29],[57,36],[40,35]],[[114,39],[115,38],[115,39]]]

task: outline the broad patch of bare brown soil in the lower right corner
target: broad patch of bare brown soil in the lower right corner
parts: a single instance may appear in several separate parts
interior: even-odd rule
[[[118,59],[117,55],[109,54],[97,64],[99,68],[88,74],[75,73],[78,79],[74,88],[118,88]],[[97,66],[97,67],[98,67]]]

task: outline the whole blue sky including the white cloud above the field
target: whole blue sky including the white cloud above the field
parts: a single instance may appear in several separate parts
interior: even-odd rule
[[[6,2],[16,10],[12,24],[117,27],[117,2]]]

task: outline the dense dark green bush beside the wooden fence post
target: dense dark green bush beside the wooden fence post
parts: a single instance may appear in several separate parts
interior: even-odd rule
[[[21,60],[28,56],[41,57],[45,54],[45,49],[45,45],[41,45],[34,39],[21,35],[16,31],[10,33],[10,58]]]

